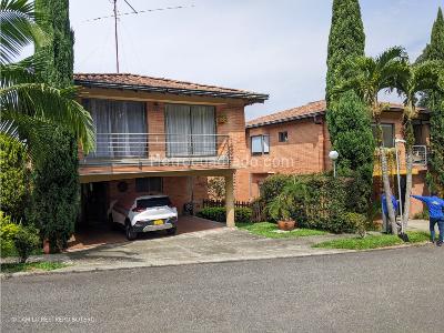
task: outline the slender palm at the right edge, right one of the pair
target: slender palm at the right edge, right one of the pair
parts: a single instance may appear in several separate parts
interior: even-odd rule
[[[415,143],[412,121],[417,117],[416,104],[421,94],[425,91],[440,91],[440,77],[444,64],[441,61],[425,61],[418,64],[405,62],[404,70],[398,77],[396,90],[404,97],[403,134],[406,150],[406,186],[404,210],[402,216],[403,230],[405,230],[410,215],[410,195],[412,193],[413,145]]]

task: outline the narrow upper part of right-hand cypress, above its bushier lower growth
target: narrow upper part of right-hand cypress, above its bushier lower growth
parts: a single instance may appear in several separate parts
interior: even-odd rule
[[[365,33],[359,0],[334,0],[327,49],[325,100],[341,79],[340,68],[347,58],[364,56]]]

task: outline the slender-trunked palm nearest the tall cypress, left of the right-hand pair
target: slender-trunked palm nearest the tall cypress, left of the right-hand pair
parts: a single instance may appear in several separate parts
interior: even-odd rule
[[[377,94],[382,90],[390,90],[396,87],[398,77],[405,68],[406,59],[407,56],[404,49],[400,47],[387,49],[376,58],[357,57],[349,59],[342,68],[345,79],[334,89],[334,93],[354,90],[367,104],[376,124],[376,145],[381,157],[383,186],[393,233],[397,231],[397,224],[391,201],[392,190],[390,188],[387,157],[386,149],[383,147],[381,127],[381,114],[387,107],[384,103],[380,103]]]

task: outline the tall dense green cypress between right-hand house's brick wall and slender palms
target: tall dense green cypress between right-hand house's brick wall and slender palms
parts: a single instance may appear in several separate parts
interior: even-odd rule
[[[332,97],[346,59],[364,56],[365,34],[359,0],[334,0],[329,37],[325,100],[333,149],[340,153],[337,172],[356,180],[356,211],[370,208],[373,184],[374,139],[366,105],[354,92]]]

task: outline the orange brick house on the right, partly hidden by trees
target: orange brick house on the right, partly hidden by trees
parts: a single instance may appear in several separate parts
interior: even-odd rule
[[[395,139],[402,139],[402,111],[400,104],[390,104],[383,112],[384,145],[394,148]],[[248,186],[242,186],[239,200],[259,196],[261,183],[271,174],[296,173],[310,174],[329,171],[331,142],[325,122],[325,101],[312,102],[303,107],[269,114],[246,123],[245,139],[250,152],[250,168],[245,174]],[[426,191],[427,145],[430,141],[428,112],[420,110],[414,122],[415,159],[413,170],[413,193]],[[401,189],[405,191],[405,150],[398,143],[402,174]],[[341,152],[340,152],[341,153]],[[396,170],[393,170],[393,174]],[[375,192],[380,192],[381,172],[375,168]],[[238,178],[236,178],[238,181]],[[245,183],[245,180],[243,180]],[[397,185],[395,183],[395,193]],[[412,201],[412,214],[422,211],[422,204]]]

